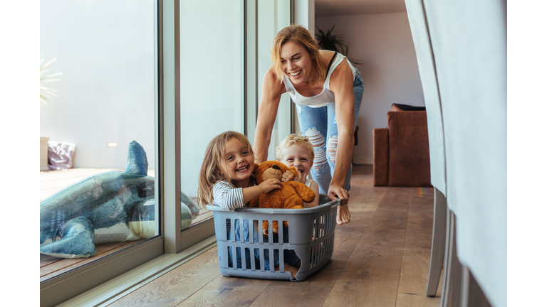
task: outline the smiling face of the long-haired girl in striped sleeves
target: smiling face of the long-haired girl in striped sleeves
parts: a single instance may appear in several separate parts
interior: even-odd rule
[[[239,139],[231,138],[224,145],[224,158],[226,158],[227,171],[232,180],[239,183],[251,177],[254,170],[254,156],[249,151],[249,147]],[[246,188],[246,185],[239,185],[239,188]]]

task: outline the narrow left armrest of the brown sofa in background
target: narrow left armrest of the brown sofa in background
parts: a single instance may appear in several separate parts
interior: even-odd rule
[[[373,129],[374,139],[374,186],[387,186],[389,162],[389,134],[387,128]]]

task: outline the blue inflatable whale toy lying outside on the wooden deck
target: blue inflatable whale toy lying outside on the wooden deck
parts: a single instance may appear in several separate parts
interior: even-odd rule
[[[95,244],[155,236],[155,180],[147,176],[146,152],[129,144],[125,171],[102,173],[59,191],[40,203],[40,252],[59,258],[85,258]],[[181,193],[181,227],[199,214]]]

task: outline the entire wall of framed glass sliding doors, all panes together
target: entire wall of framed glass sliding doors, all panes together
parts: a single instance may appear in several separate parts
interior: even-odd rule
[[[291,1],[269,2],[41,2],[41,136],[68,168],[41,172],[41,306],[214,244],[199,169],[217,134],[254,141],[271,39],[291,16]],[[283,99],[275,143],[290,131]]]

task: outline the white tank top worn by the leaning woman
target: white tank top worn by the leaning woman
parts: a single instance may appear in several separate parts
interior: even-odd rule
[[[284,75],[283,83],[285,84],[285,89],[287,90],[288,94],[291,95],[291,98],[293,99],[293,102],[298,105],[305,105],[308,107],[325,107],[328,104],[331,104],[334,102],[334,92],[330,90],[330,74],[335,70],[340,63],[344,60],[345,56],[343,56],[340,53],[336,53],[336,58],[334,59],[333,63],[330,65],[330,69],[327,72],[327,78],[325,79],[325,85],[323,85],[323,90],[318,95],[315,95],[313,97],[305,97],[300,95],[299,92],[296,92],[296,89],[293,86],[293,83],[291,80]],[[353,65],[351,65],[350,60],[346,59],[348,61],[348,65],[350,65],[351,72],[353,72],[353,80],[355,80],[355,68]]]

